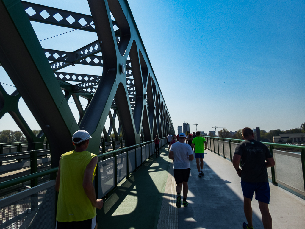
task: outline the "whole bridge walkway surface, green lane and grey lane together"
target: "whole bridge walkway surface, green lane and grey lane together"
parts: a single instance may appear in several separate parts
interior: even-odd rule
[[[191,161],[188,207],[175,206],[173,163],[167,147],[160,149],[137,172],[122,183],[97,210],[99,228],[241,228],[245,222],[240,178],[232,164],[211,151],[204,158],[204,176],[199,178]],[[273,228],[304,228],[305,200],[281,187],[271,187],[269,205]],[[255,196],[253,197],[253,199]],[[258,202],[253,201],[253,225],[264,228]]]

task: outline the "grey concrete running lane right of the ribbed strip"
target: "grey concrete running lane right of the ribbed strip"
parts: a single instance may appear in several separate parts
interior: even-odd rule
[[[198,177],[196,161],[191,162],[186,208],[178,209],[178,228],[242,228],[246,222],[243,213],[243,195],[240,178],[232,163],[218,154],[206,151],[204,176]],[[270,184],[270,213],[273,228],[304,228],[305,200]],[[264,228],[258,202],[253,196],[253,227]]]

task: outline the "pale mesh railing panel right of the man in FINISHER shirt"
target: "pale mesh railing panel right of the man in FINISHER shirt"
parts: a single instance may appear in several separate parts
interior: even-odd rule
[[[273,150],[276,182],[305,194],[301,154]]]

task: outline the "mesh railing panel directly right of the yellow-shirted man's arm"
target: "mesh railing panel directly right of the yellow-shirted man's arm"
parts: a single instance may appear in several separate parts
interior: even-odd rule
[[[98,196],[102,198],[114,187],[114,158],[108,158],[98,163],[97,177],[99,182]]]

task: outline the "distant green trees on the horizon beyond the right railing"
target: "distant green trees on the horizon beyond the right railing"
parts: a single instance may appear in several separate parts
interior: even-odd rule
[[[280,136],[283,133],[305,133],[305,122],[301,124],[299,128],[289,129],[289,130],[280,130],[280,129],[271,129],[269,132],[264,130],[260,131],[260,140],[263,142],[272,142],[273,136]],[[254,132],[256,136],[256,133]],[[211,135],[209,135],[211,136]],[[242,129],[239,129],[237,133],[231,134],[227,129],[222,129],[218,131],[218,136],[222,138],[234,138],[234,139],[242,139]],[[287,141],[289,142],[289,141]]]

